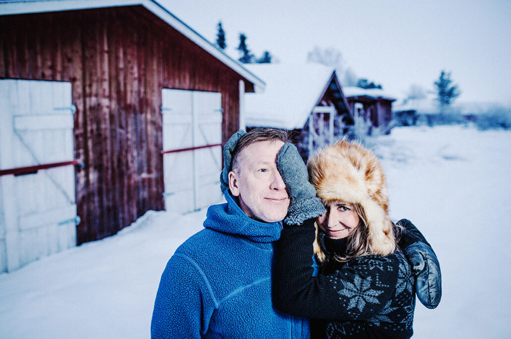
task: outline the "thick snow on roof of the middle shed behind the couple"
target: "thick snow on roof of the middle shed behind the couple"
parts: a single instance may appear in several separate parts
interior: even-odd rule
[[[245,65],[266,83],[263,93],[245,95],[247,126],[302,128],[323,91],[334,68],[320,64]]]

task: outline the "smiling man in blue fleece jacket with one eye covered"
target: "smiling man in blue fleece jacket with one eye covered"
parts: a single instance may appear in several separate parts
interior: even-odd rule
[[[240,131],[227,141],[220,175],[227,202],[210,206],[204,229],[170,258],[154,303],[152,338],[310,336],[308,320],[283,314],[271,302],[273,242],[280,238],[282,220],[317,216],[318,208],[324,212],[310,199],[290,206],[277,168],[287,141],[287,133],[277,129]],[[288,176],[293,167],[299,169],[287,166]],[[430,293],[439,277],[427,276],[430,247],[421,240],[410,236],[410,244],[421,246],[407,255],[425,274],[420,280],[428,282],[423,290]]]

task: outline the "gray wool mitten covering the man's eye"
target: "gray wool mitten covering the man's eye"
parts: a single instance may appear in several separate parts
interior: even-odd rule
[[[309,182],[309,174],[296,146],[286,143],[277,154],[277,168],[289,192],[291,203],[284,222],[299,225],[325,213],[321,199]]]

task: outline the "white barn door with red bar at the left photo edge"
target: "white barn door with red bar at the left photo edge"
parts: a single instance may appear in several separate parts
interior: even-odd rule
[[[76,246],[71,84],[0,80],[0,271]]]

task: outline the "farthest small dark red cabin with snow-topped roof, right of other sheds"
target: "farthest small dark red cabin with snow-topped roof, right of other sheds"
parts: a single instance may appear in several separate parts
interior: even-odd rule
[[[344,87],[344,94],[350,109],[356,118],[363,118],[367,124],[367,134],[377,127],[384,134],[390,134],[392,128],[392,102],[396,99],[385,94],[381,89],[364,89],[360,87]]]

